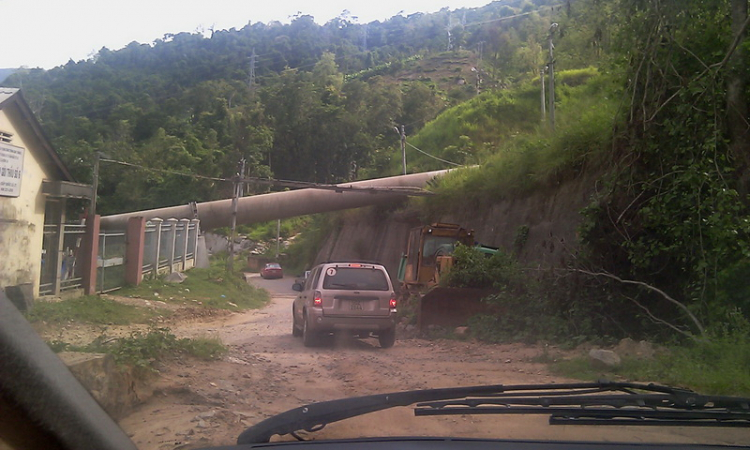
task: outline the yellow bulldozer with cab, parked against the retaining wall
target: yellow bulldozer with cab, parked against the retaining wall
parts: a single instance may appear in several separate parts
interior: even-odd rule
[[[440,278],[453,266],[457,245],[475,246],[491,256],[496,248],[480,245],[474,231],[452,223],[433,223],[412,228],[406,253],[401,256],[398,279],[401,295],[419,298],[417,327],[424,331],[430,325],[457,327],[466,325],[469,317],[488,312],[481,299],[491,289],[441,287]]]

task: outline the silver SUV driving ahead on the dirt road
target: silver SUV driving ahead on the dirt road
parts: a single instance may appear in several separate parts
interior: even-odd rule
[[[376,335],[380,346],[396,341],[396,293],[380,264],[324,263],[315,266],[292,305],[292,334],[306,347],[323,334],[346,331],[359,337]]]

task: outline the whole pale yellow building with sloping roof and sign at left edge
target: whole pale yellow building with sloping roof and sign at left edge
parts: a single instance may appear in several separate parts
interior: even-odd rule
[[[90,186],[73,183],[20,90],[0,87],[0,288],[8,297],[37,297],[43,265],[52,273],[47,291],[59,292],[65,202],[90,195]]]

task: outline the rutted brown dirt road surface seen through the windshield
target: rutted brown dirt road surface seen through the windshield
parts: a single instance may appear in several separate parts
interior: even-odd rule
[[[120,421],[140,449],[234,444],[247,426],[321,400],[419,388],[568,381],[555,379],[543,364],[532,362],[542,348],[525,345],[399,338],[390,349],[381,349],[376,339],[339,339],[305,348],[291,333],[292,280],[254,276],[250,282],[272,293],[268,307],[170,325],[180,337],[217,335],[230,351],[218,362],[185,361],[160,368],[153,384],[141,389],[144,403]],[[743,442],[737,430],[710,432],[722,442]],[[542,416],[417,418],[411,409],[399,408],[329,425],[315,437],[454,435],[697,442],[706,434],[705,429],[551,427]]]

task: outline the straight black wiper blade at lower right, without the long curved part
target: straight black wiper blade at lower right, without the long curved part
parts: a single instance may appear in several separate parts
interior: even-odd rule
[[[419,403],[414,414],[549,414],[551,425],[749,427],[750,399],[637,383],[506,386],[487,398]]]

